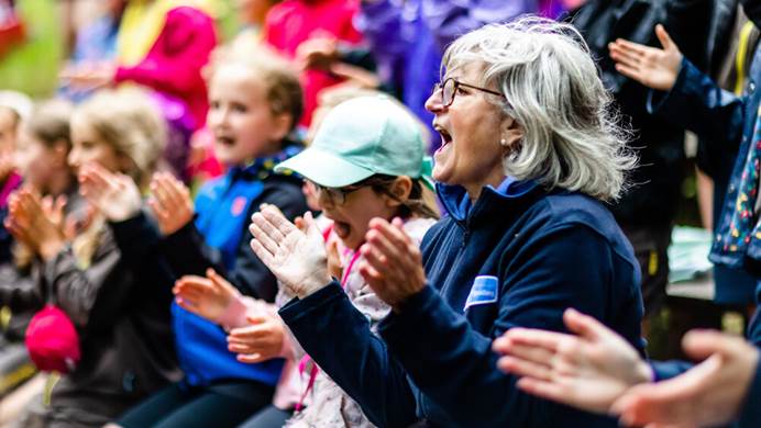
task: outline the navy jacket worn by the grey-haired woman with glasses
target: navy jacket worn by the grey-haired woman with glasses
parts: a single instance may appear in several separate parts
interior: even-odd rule
[[[449,216],[422,241],[428,286],[373,335],[333,282],[280,309],[304,349],[380,427],[616,427],[520,392],[492,341],[515,327],[564,330],[575,307],[642,351],[639,266],[596,200],[507,179],[475,202],[440,187]],[[474,284],[475,283],[475,284]]]

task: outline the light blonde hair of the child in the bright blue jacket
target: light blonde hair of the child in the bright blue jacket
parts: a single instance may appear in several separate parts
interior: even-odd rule
[[[273,115],[288,114],[293,131],[304,113],[304,92],[294,65],[264,46],[249,49],[229,46],[217,48],[205,70],[208,85],[221,67],[239,65],[251,69],[251,76],[264,85],[264,92]]]

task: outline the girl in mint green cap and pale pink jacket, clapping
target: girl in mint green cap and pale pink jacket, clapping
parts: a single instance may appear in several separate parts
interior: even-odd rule
[[[360,274],[359,248],[364,244],[371,218],[404,218],[404,229],[417,243],[435,222],[438,212],[430,194],[424,153],[421,126],[404,106],[387,97],[360,97],[331,110],[311,146],[275,168],[278,172],[291,170],[301,174],[317,194],[323,216],[330,222],[318,227],[307,214],[297,221],[298,227],[321,235],[316,240],[328,247],[326,269],[340,281],[350,301],[371,325],[386,316],[389,307],[375,296]],[[326,254],[324,249],[320,250]],[[203,296],[196,297],[196,307],[210,308],[212,300],[223,301],[225,319],[245,318],[245,312],[257,311],[256,302],[241,297],[221,281],[213,290],[190,283],[183,289],[178,293],[183,299],[198,296],[201,291]],[[293,297],[294,294],[282,289],[278,301],[286,303]],[[262,340],[266,338],[247,339],[234,333],[230,336],[231,343],[241,349],[247,349],[246,342],[255,346],[255,341]],[[298,370],[297,412],[286,426],[373,426],[360,406],[319,370],[293,337],[284,343],[282,354]],[[245,426],[268,425],[255,417]]]

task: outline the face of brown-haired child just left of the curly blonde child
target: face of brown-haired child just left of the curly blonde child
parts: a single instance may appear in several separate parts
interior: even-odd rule
[[[54,150],[23,128],[19,133],[13,161],[24,182],[43,191],[49,185],[53,166],[59,165]]]

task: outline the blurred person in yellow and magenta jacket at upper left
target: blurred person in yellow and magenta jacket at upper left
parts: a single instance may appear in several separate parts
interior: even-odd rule
[[[74,88],[136,83],[152,91],[169,135],[164,159],[185,174],[190,136],[209,109],[201,70],[217,46],[216,0],[130,0],[117,35],[117,57],[69,67],[62,79]]]

